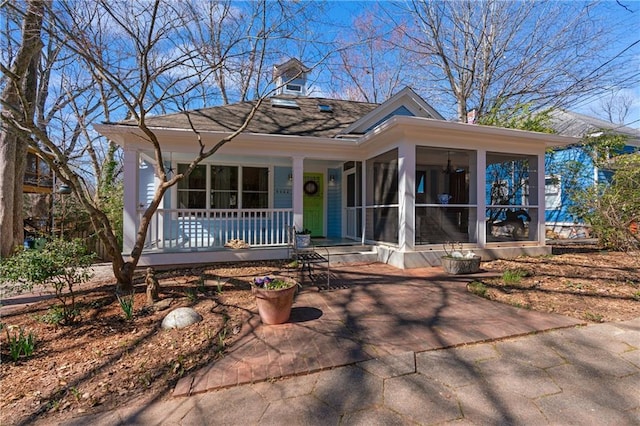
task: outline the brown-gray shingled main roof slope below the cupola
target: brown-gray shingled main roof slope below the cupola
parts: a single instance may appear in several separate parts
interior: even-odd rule
[[[249,127],[247,133],[335,137],[341,130],[360,117],[375,109],[378,104],[343,101],[324,98],[292,98],[299,109],[276,107],[270,99],[265,99]],[[187,114],[196,130],[199,131],[235,131],[249,115],[255,101],[240,102],[232,105],[197,109],[167,115],[149,116],[147,125],[174,129],[190,129]],[[331,112],[322,112],[318,105],[328,105]],[[119,124],[133,124],[131,121]]]

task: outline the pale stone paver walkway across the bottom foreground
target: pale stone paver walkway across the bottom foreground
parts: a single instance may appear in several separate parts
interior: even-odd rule
[[[403,352],[67,425],[640,424],[640,318]]]

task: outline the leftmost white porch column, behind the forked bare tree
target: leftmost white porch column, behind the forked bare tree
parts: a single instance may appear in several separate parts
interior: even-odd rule
[[[138,228],[138,161],[137,151],[124,150],[124,211],[122,218],[122,251],[131,253]]]

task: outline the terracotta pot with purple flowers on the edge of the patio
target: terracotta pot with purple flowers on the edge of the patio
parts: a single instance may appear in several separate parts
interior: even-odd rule
[[[251,292],[256,296],[258,313],[264,324],[289,320],[298,283],[288,277],[254,278]]]

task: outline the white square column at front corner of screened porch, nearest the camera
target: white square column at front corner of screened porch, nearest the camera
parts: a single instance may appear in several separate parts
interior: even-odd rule
[[[415,249],[416,148],[403,143],[398,147],[398,248]]]

